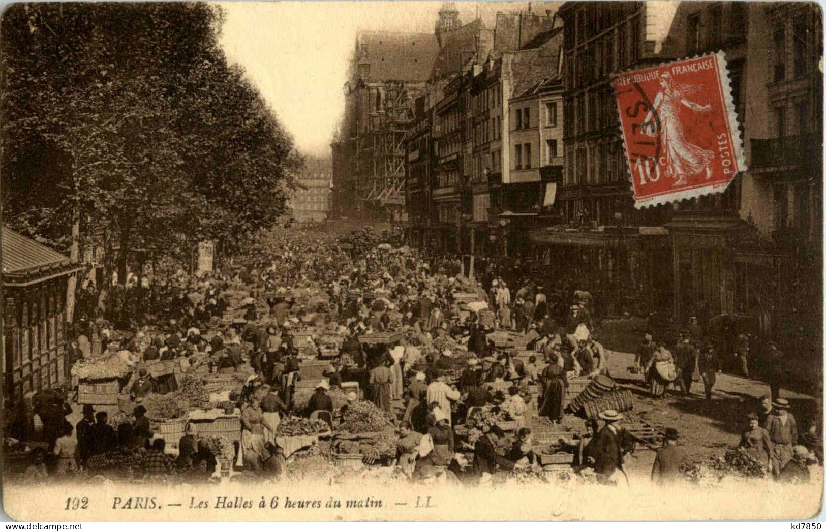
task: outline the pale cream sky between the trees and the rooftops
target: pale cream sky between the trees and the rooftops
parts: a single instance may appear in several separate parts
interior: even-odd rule
[[[533,2],[544,14],[547,2]],[[456,2],[463,23],[493,26],[497,11],[527,11],[528,2]],[[342,87],[356,31],[434,31],[441,2],[220,2],[221,36],[230,61],[240,63],[297,148],[330,154],[344,112]]]

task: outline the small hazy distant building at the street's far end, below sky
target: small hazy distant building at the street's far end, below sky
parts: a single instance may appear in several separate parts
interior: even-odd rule
[[[330,159],[308,158],[297,175],[299,187],[287,208],[299,223],[327,220],[332,204]]]

